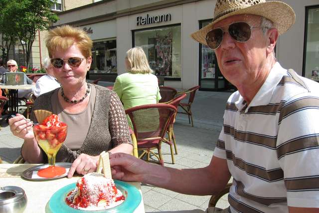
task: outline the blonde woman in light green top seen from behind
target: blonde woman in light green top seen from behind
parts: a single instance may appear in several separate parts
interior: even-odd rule
[[[125,65],[127,73],[119,75],[113,87],[124,109],[158,103],[161,98],[158,78],[152,74],[153,70],[143,49],[129,49],[126,52]]]

